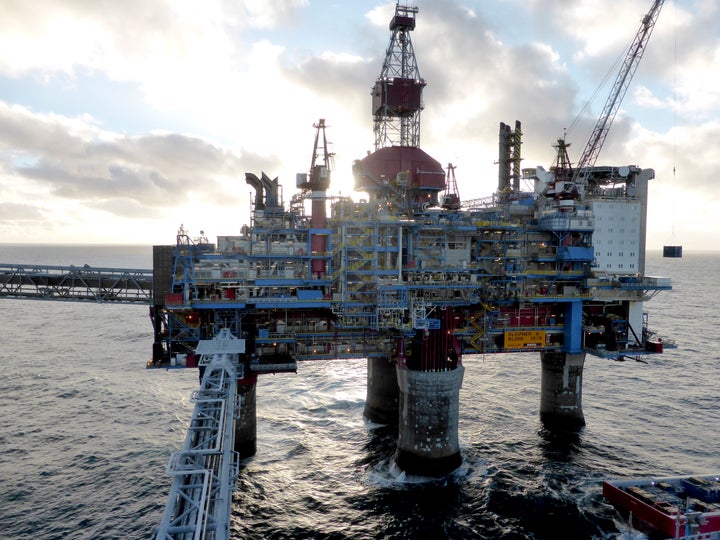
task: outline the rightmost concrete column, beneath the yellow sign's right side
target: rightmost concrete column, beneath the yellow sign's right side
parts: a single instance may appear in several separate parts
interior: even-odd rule
[[[546,425],[585,425],[582,412],[582,372],[585,353],[543,352],[540,419]]]

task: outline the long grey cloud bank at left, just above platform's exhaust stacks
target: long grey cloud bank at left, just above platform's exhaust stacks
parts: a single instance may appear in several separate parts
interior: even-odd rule
[[[2,102],[0,140],[5,178],[23,178],[35,193],[127,217],[191,196],[218,206],[238,204],[245,171],[277,167],[277,158],[241,157],[199,137],[127,136]],[[228,180],[237,180],[234,192],[228,192]]]

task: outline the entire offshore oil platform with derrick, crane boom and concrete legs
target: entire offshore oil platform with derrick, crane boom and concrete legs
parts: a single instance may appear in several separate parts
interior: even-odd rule
[[[305,360],[367,359],[365,415],[399,423],[396,461],[411,473],[461,463],[467,355],[538,354],[542,420],[584,424],[586,354],[662,352],[643,311],[671,288],[645,276],[654,171],[595,165],[661,6],[643,19],[576,166],[561,139],[549,170],[521,169],[521,124],[501,123],[497,191],[462,201],[454,167],[420,148],[426,83],[410,38],[418,9],[398,4],[371,92],[375,149],[352,169],[365,198],[327,195],[324,119],[289,205],[277,178],[247,173],[255,196],[239,235],[214,244],[181,228],[175,245],[154,247],[149,366],[204,368],[213,355],[236,354],[240,457],[256,448],[258,375]],[[210,345],[222,332],[230,348]]]

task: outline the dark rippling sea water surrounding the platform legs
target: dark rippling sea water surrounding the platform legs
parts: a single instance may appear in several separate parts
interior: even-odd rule
[[[0,246],[0,263],[150,268],[149,246]],[[301,363],[257,386],[257,455],[233,498],[236,538],[617,538],[601,480],[720,471],[719,253],[663,259],[646,304],[677,349],[647,363],[588,356],[587,425],[539,421],[539,354],[465,356],[462,466],[393,463],[396,433],[363,419],[362,360]],[[0,538],[152,538],[197,371],[146,370],[147,306],[0,299]]]

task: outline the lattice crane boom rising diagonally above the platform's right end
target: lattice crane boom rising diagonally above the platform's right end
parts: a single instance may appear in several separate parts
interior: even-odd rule
[[[628,49],[622,68],[617,74],[612,92],[610,92],[607,102],[605,103],[605,108],[595,124],[595,128],[585,145],[580,161],[578,161],[577,167],[575,168],[574,179],[576,182],[580,180],[585,183],[588,176],[588,169],[595,165],[598,154],[605,144],[610,126],[620,108],[620,103],[622,103],[625,97],[628,86],[630,86],[630,81],[632,81],[635,70],[637,70],[640,59],[645,52],[645,46],[650,39],[664,1],[665,0],[655,0],[650,11],[643,17],[640,29],[637,31],[637,34],[635,34],[635,39],[633,39]]]

